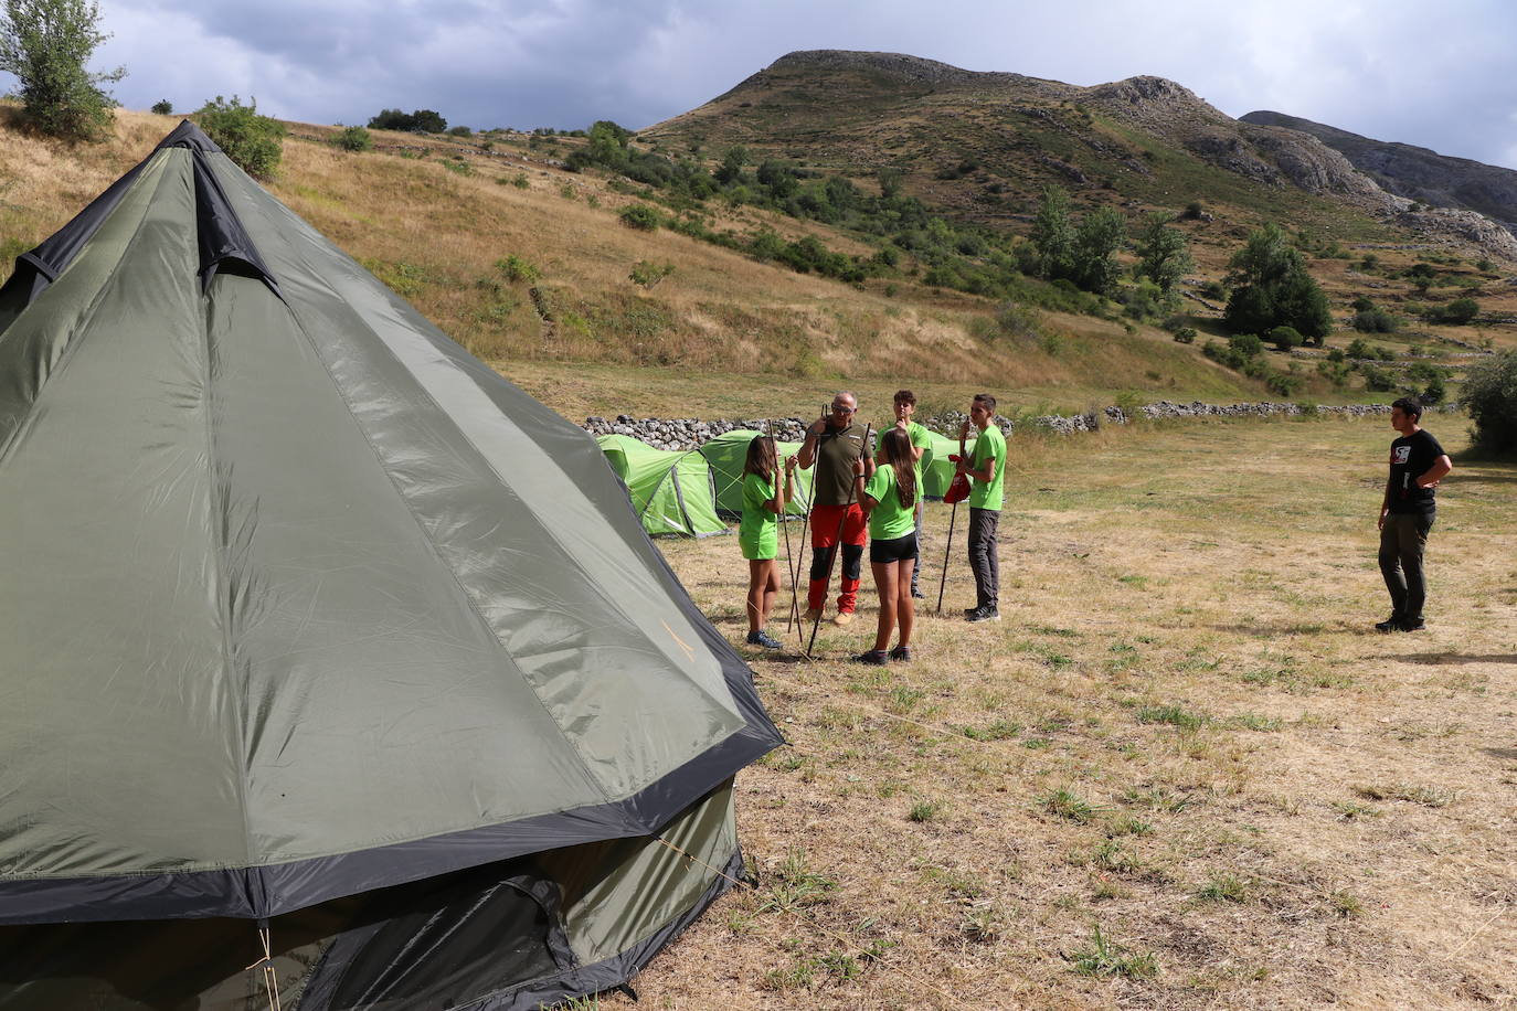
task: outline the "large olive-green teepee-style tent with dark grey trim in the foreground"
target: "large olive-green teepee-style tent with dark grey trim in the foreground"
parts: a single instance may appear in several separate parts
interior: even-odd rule
[[[537,1008],[740,870],[595,441],[188,123],[0,288],[0,558],[5,1011]]]

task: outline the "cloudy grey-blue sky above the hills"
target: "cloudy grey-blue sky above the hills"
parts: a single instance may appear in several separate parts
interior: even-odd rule
[[[1229,115],[1273,109],[1517,168],[1509,0],[100,0],[129,108],[258,99],[366,123],[643,127],[799,49],[912,53],[1077,85],[1159,74]]]

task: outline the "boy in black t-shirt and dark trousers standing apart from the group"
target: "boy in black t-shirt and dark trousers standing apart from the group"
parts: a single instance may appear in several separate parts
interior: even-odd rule
[[[1421,556],[1437,512],[1434,488],[1453,464],[1432,432],[1423,429],[1421,403],[1402,397],[1391,405],[1391,427],[1400,438],[1391,443],[1391,476],[1380,502],[1380,574],[1391,591],[1391,617],[1376,624],[1379,632],[1415,632],[1423,628]]]

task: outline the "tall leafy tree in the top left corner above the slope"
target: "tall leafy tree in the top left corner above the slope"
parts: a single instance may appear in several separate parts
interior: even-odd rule
[[[15,74],[26,118],[38,130],[71,141],[105,136],[115,102],[102,85],[126,70],[96,74],[85,65],[108,38],[94,0],[5,0],[0,71]]]

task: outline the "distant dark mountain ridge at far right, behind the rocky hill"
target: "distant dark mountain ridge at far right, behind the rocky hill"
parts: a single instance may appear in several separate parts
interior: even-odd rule
[[[1517,230],[1517,171],[1511,168],[1412,144],[1376,141],[1283,112],[1247,112],[1241,121],[1309,133],[1399,197],[1435,208],[1476,211]]]

